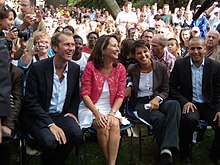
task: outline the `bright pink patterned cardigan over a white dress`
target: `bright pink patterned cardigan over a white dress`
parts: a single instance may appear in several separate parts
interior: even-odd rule
[[[118,98],[124,99],[126,85],[126,70],[120,63],[113,68],[111,73],[106,77],[100,70],[97,70],[92,61],[89,61],[82,75],[81,96],[89,96],[95,104],[101,96],[104,82],[107,80],[110,92],[110,104],[113,106]]]

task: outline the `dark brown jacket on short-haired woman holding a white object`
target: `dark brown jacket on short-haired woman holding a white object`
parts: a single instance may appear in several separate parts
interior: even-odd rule
[[[163,100],[168,98],[169,79],[166,66],[160,62],[153,62],[153,96],[160,96]],[[128,66],[128,77],[133,81],[133,88],[130,97],[131,106],[135,106],[137,102],[137,93],[140,81],[140,65],[139,63]]]

